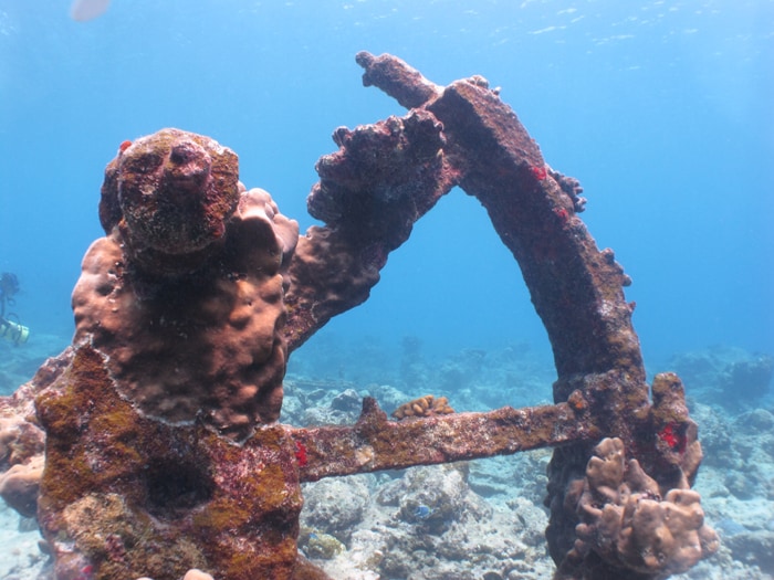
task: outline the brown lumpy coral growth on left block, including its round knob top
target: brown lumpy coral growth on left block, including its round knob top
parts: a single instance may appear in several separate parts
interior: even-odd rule
[[[107,235],[73,291],[74,342],[106,355],[148,415],[199,418],[236,439],[275,421],[297,223],[239,183],[236,154],[177,129],[108,165],[101,220]]]

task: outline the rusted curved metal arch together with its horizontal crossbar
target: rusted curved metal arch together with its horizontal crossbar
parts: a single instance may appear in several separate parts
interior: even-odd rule
[[[485,80],[474,76],[441,87],[390,55],[362,52],[356,60],[365,68],[364,85],[383,89],[411,110],[401,119],[336,129],[339,151],[318,161],[321,181],[308,205],[326,225],[301,239],[291,265],[289,349],[332,316],[364,302],[388,252],[406,241],[412,223],[441,196],[460,186],[484,205],[521,267],[551,340],[556,404],[398,423],[367,399],[355,425],[292,430],[306,452],[301,481],[553,446],[546,498],[551,555],[565,578],[607,578],[615,569],[593,555],[590,561],[564,561],[578,524],[574,494],[594,444],[603,436],[620,437],[665,488],[678,484],[683,468],[692,481],[700,461],[700,451],[698,460],[686,461],[657,435],[666,424],[673,425],[684,450],[695,442],[697,430],[681,392],[659,393],[651,405],[631,325],[634,304],[623,291],[630,280],[613,251],[600,251],[577,217],[585,204],[578,181],[545,164]],[[391,136],[386,140],[394,149],[414,154],[390,159],[389,147],[379,145],[385,135]],[[398,162],[415,166],[414,187],[390,173]],[[363,173],[368,175],[365,181]],[[375,214],[390,218],[379,222]],[[335,264],[320,264],[321,245],[336,249]],[[307,253],[315,260],[306,260]],[[348,286],[333,298],[314,281],[325,277],[335,286],[335,272],[345,273]],[[593,576],[585,576],[589,570]]]

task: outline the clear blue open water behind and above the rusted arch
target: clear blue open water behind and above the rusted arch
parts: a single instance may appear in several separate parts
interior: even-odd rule
[[[209,135],[240,155],[248,187],[312,224],[333,129],[404,114],[362,87],[367,50],[439,84],[502,87],[634,278],[653,370],[715,344],[774,354],[771,0],[113,0],[90,22],[69,8],[0,0],[0,271],[19,276],[31,341],[72,334],[103,169],[125,139]],[[323,333],[386,350],[406,336],[438,352],[527,342],[550,358],[515,262],[461,191]]]

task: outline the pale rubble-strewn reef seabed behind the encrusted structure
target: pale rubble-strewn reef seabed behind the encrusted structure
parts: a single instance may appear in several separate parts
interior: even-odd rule
[[[330,365],[328,338],[336,338],[338,355],[354,366],[344,369],[343,378],[338,375],[338,361]],[[427,380],[414,386],[415,390],[411,390],[411,384],[402,383],[399,375],[400,345],[393,345],[384,338],[379,344],[387,352],[386,362],[393,366],[393,373],[383,375],[380,367],[372,368],[372,375],[363,375],[359,384],[353,384],[348,377],[360,376],[359,366],[367,367],[367,361],[357,359],[363,339],[348,335],[338,338],[338,335],[326,333],[293,355],[284,381],[282,422],[306,425],[306,419],[312,419],[315,422],[335,420],[342,424],[352,423],[357,419],[359,407],[353,414],[333,409],[333,401],[353,389],[359,397],[376,397],[389,411],[398,403],[422,394],[425,390],[441,392],[443,377],[440,372],[427,372]],[[390,349],[390,346],[395,348]],[[492,397],[493,391],[502,397],[492,399],[493,404],[503,404],[502,401],[525,404],[534,402],[536,397],[548,396],[550,382],[544,375],[553,372],[550,360],[544,360],[541,369],[537,369],[533,360],[534,351],[517,348],[506,342],[491,346],[481,381],[470,390],[454,393],[454,407],[474,409],[484,396]],[[442,361],[458,359],[460,357],[456,351],[438,355],[428,351],[423,354],[422,365],[438,371]],[[475,361],[463,360],[468,360],[471,369],[477,368]],[[467,372],[467,369],[461,370]],[[389,382],[379,383],[379,380]],[[509,390],[512,383],[520,389],[526,386],[530,392]],[[690,394],[689,390],[689,401]],[[349,396],[346,398],[348,400]],[[771,580],[774,568],[765,548],[766,537],[774,530],[774,486],[771,484],[774,478],[774,443],[771,429],[765,429],[765,419],[757,418],[771,415],[764,408],[771,410],[772,404],[764,402],[755,411],[736,414],[698,402],[689,404],[691,416],[700,424],[701,443],[705,451],[695,489],[702,496],[705,521],[721,537],[721,547],[712,557],[673,578]],[[719,439],[720,435],[723,439]],[[719,446],[721,444],[726,447],[723,450]],[[726,461],[728,457],[733,457],[733,461]],[[385,578],[388,576],[387,569],[400,562],[414,565],[405,568],[410,568],[406,578],[411,580],[443,578],[443,573],[446,578],[471,580],[551,578],[554,565],[545,550],[547,514],[542,507],[550,458],[551,450],[544,449],[458,464],[464,467],[461,473],[467,473],[470,491],[449,529],[440,536],[423,534],[417,525],[420,519],[411,524],[396,515],[401,498],[409,502],[415,494],[442,487],[442,479],[449,473],[443,466],[422,467],[421,471],[427,474],[422,478],[415,477],[417,470],[409,468],[303,484],[304,507],[299,550],[331,578],[342,580]],[[725,482],[731,478],[746,482],[743,497],[728,487]],[[421,485],[417,485],[419,482]],[[317,493],[316,486],[323,484]],[[480,497],[477,498],[477,495]],[[349,504],[349,496],[357,497],[357,502]],[[339,505],[341,509],[337,509]],[[39,580],[39,571],[48,555],[38,548],[40,534],[36,524],[33,519],[20,519],[12,509],[3,508],[0,502],[0,536],[6,538],[6,549],[0,552],[0,578]],[[349,516],[348,512],[357,517]],[[412,518],[408,510],[406,516]],[[335,531],[325,526],[325,518],[328,517],[336,521]],[[307,527],[310,521],[315,521],[315,526]],[[344,525],[345,521],[348,524]],[[321,536],[325,546],[332,541],[330,538],[335,538],[345,550],[331,559],[323,558],[328,552],[307,551],[310,532]],[[338,544],[332,541],[331,545]]]

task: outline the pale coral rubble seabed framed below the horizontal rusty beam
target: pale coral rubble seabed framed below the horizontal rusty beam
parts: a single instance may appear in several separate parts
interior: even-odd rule
[[[517,460],[525,455],[505,463],[516,460],[513,467],[517,467]],[[367,494],[367,502],[348,528],[323,528],[346,538],[346,551],[328,560],[315,559],[315,563],[333,578],[352,580],[548,578],[552,566],[543,546],[544,512],[522,498],[510,499],[511,493],[516,496],[520,492],[513,481],[510,505],[482,498],[471,488],[472,465],[335,479],[342,493],[352,484],[358,496]],[[353,478],[356,481],[351,482]],[[305,486],[304,495],[314,494],[314,486],[322,483],[311,484],[312,489]],[[314,506],[304,506],[302,521],[314,517]],[[310,556],[305,546],[301,549]]]

